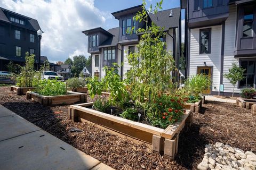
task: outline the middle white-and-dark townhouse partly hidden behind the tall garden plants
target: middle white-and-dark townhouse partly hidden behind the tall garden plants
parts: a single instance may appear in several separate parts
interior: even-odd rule
[[[125,79],[125,74],[130,70],[127,54],[138,50],[140,35],[136,30],[145,27],[144,22],[133,20],[133,16],[138,11],[142,11],[142,5],[113,12],[112,15],[119,21],[116,28],[105,30],[98,27],[82,31],[88,37],[88,53],[92,56],[92,77],[103,78],[105,76],[103,67],[114,67],[113,64],[117,63],[119,67],[116,67],[116,71],[122,79]],[[150,23],[154,22],[157,26],[164,28],[166,36],[162,40],[166,42],[166,50],[173,53],[176,62],[179,61],[181,54],[180,14],[180,8],[177,7],[149,15]],[[135,30],[132,33],[126,33],[126,30],[132,27]]]

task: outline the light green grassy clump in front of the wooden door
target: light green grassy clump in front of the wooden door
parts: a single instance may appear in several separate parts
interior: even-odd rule
[[[211,80],[203,74],[197,74],[187,79],[185,84],[190,93],[198,98],[199,94],[202,94],[204,90],[210,88]]]

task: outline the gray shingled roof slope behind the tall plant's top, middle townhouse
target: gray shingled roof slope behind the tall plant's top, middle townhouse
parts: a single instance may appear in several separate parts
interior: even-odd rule
[[[170,16],[171,10],[172,16]],[[164,31],[167,31],[169,28],[179,27],[180,7],[158,11],[156,14],[149,14],[149,16],[152,22],[158,27],[163,27]]]

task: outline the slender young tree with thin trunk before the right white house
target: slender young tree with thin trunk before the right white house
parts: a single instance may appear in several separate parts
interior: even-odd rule
[[[234,97],[235,85],[238,81],[243,80],[243,74],[245,69],[239,67],[236,63],[232,63],[232,67],[228,69],[228,73],[223,74],[223,77],[229,80],[229,82],[233,85],[233,94]]]

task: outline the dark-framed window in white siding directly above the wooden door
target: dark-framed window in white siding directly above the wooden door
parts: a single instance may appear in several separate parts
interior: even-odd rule
[[[211,29],[200,30],[200,54],[211,53]]]

